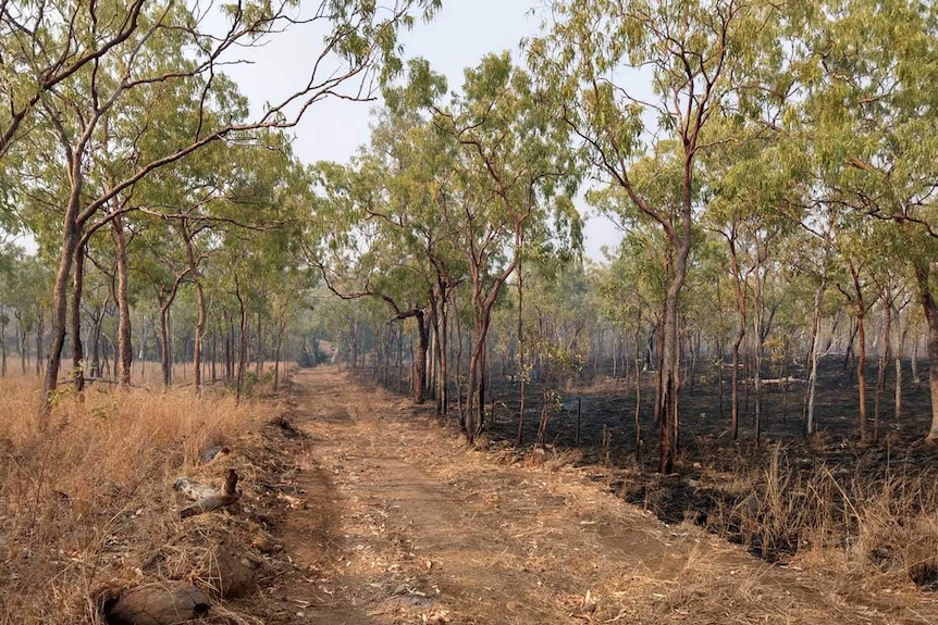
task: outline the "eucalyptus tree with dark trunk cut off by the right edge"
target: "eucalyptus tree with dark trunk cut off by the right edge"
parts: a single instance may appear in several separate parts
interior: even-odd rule
[[[889,254],[916,276],[929,327],[931,428],[938,439],[938,309],[931,260],[938,233],[931,200],[938,188],[938,13],[933,3],[877,0],[820,3],[799,46],[810,52],[804,98],[792,124],[819,205],[894,228],[897,248],[857,247],[863,257]],[[836,9],[836,10],[835,10]],[[869,228],[871,226],[865,226]],[[883,239],[880,239],[883,240]],[[875,259],[868,259],[876,262]]]

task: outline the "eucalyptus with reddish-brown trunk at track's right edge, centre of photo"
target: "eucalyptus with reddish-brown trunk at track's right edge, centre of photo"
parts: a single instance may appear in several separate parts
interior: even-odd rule
[[[568,128],[557,123],[530,74],[502,53],[486,55],[465,76],[452,102],[431,102],[430,109],[434,125],[458,147],[446,218],[464,250],[471,288],[473,338],[464,424],[471,441],[484,426],[492,309],[518,268],[522,249],[578,249],[582,241],[580,217],[569,200],[579,183],[577,153]]]

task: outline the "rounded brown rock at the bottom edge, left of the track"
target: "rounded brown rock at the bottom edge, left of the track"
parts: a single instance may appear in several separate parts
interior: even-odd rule
[[[107,610],[109,625],[176,625],[209,612],[201,590],[185,582],[158,582],[121,592]]]

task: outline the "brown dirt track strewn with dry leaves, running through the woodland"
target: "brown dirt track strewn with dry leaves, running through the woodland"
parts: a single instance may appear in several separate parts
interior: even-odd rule
[[[295,379],[297,486],[274,623],[929,623],[668,527],[569,458],[506,461],[332,367]]]

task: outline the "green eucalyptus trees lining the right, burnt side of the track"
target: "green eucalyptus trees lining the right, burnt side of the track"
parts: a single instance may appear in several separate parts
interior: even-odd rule
[[[557,332],[558,304],[538,303],[573,288],[552,276],[580,271],[577,314],[602,313],[632,346],[654,337],[663,473],[689,358],[729,362],[735,436],[743,378],[758,396],[776,363],[804,362],[811,433],[829,320],[852,352],[863,441],[876,436],[887,366],[920,345],[910,328],[924,334],[938,437],[935,7],[557,0],[546,11],[523,63],[487,55],[452,93],[430,62],[411,62],[370,145],[318,167],[320,270],[342,298],[414,320],[415,399],[432,387],[444,411],[460,404],[471,440],[491,354],[510,335],[523,415],[534,366],[590,358],[572,326]],[[625,233],[589,272],[576,270],[584,189]],[[496,338],[509,299],[514,332]]]

